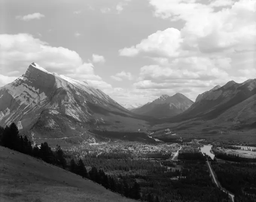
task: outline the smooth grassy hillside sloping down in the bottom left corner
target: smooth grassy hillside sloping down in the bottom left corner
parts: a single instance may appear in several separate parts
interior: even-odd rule
[[[135,202],[34,157],[0,147],[0,202]]]

